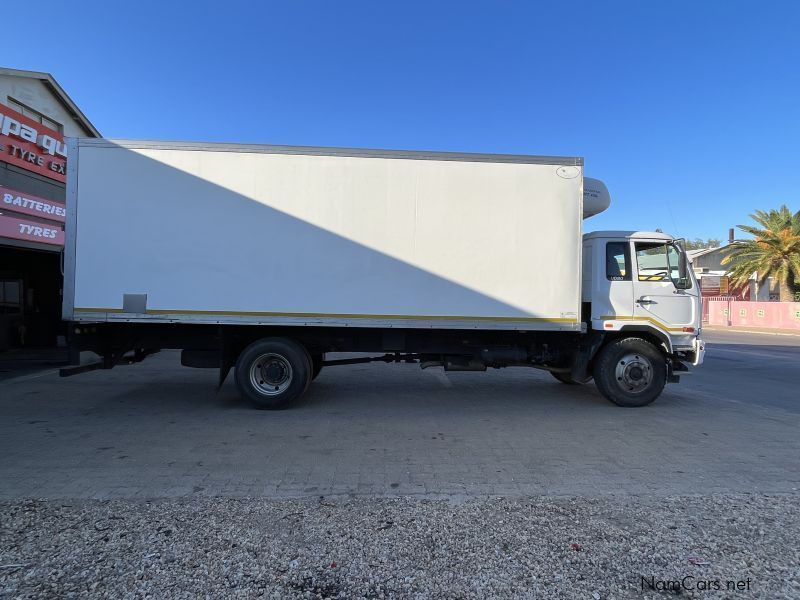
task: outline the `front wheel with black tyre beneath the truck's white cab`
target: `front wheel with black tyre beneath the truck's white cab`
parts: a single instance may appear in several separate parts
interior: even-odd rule
[[[600,349],[594,363],[597,389],[618,406],[645,406],[667,383],[667,362],[656,346],[642,338],[622,338]]]

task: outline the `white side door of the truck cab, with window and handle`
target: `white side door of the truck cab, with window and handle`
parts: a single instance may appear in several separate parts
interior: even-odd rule
[[[634,317],[672,332],[696,327],[699,290],[678,246],[637,240],[633,256]]]

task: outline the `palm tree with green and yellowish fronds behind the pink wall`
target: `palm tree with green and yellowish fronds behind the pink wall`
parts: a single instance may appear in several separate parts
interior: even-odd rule
[[[759,285],[772,277],[780,283],[781,302],[793,301],[800,283],[800,211],[793,214],[783,205],[769,212],[757,210],[750,218],[759,227],[737,227],[754,239],[733,242],[722,259],[723,265],[731,265],[731,283],[744,286],[753,273]]]

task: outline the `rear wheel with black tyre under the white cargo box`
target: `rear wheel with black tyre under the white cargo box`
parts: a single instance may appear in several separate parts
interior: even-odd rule
[[[236,361],[236,387],[258,408],[287,408],[303,395],[310,381],[306,349],[287,338],[253,342]]]

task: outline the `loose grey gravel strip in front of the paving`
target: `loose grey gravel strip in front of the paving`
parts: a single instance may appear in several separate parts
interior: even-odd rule
[[[796,495],[31,500],[0,596],[800,598],[799,531]]]

